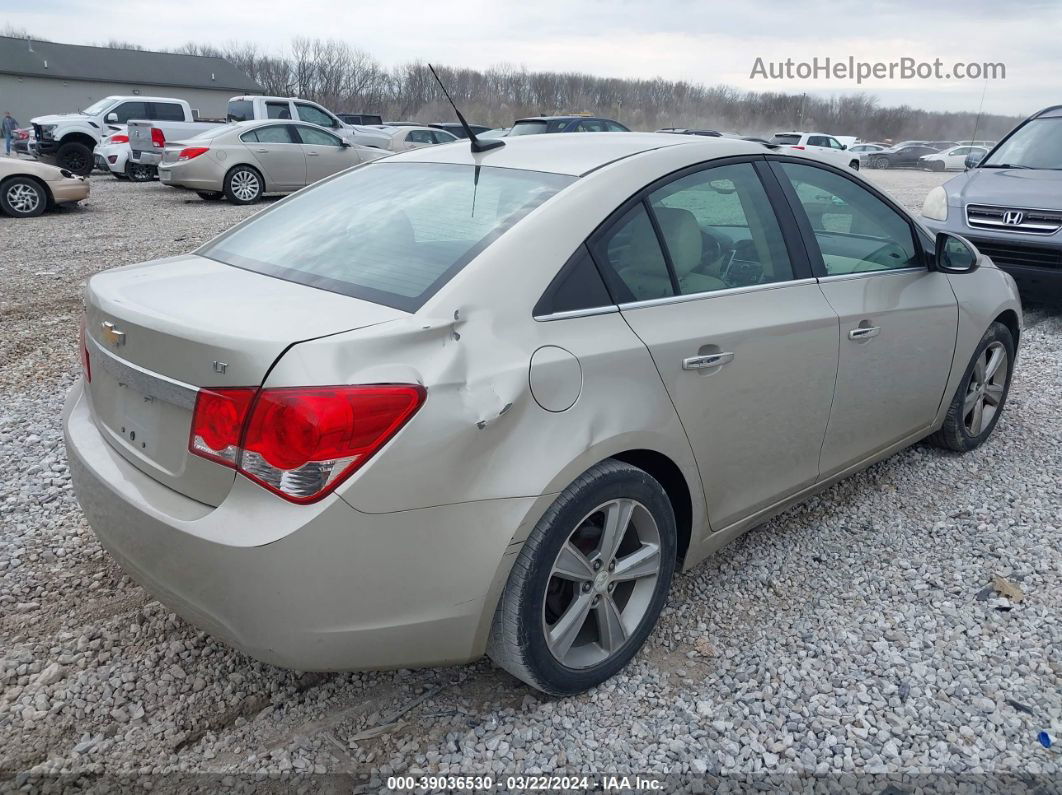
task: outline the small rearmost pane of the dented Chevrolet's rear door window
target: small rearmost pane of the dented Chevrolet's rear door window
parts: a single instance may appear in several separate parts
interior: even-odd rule
[[[660,240],[641,202],[605,232],[596,245],[595,256],[619,301],[675,294]]]

